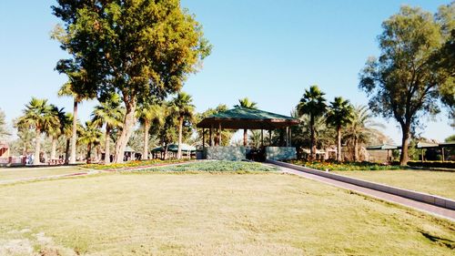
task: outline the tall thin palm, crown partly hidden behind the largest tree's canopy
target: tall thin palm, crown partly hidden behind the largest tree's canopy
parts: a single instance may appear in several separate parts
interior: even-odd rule
[[[68,77],[72,77],[73,75]],[[70,79],[71,80],[71,79]],[[64,96],[69,96],[73,97],[73,130],[72,130],[72,136],[71,136],[71,157],[69,162],[74,164],[76,163],[76,138],[77,138],[77,107],[80,102],[82,102],[85,99],[93,98],[96,97],[95,92],[90,91],[86,93],[77,93],[76,87],[75,87],[75,79],[72,79],[73,81],[68,81],[66,84],[64,84],[57,92],[57,95],[59,97],[64,97]]]

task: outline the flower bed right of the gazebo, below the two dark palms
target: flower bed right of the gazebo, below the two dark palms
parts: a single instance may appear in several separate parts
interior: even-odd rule
[[[403,169],[400,166],[381,165],[371,162],[305,161],[290,160],[288,163],[320,170],[388,170]]]

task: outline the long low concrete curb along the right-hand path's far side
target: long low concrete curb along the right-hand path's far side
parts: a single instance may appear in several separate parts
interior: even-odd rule
[[[295,169],[298,171],[307,172],[307,173],[322,176],[325,178],[339,180],[339,181],[346,182],[349,184],[357,185],[359,187],[364,187],[367,189],[374,189],[374,190],[378,190],[381,192],[386,192],[386,193],[396,195],[396,196],[399,196],[402,198],[407,198],[410,200],[416,200],[416,201],[428,203],[428,204],[438,206],[441,208],[455,210],[455,200],[450,200],[450,199],[442,198],[439,196],[434,196],[434,195],[430,195],[430,194],[426,194],[426,193],[422,193],[422,192],[418,192],[418,191],[414,191],[414,190],[409,190],[409,189],[399,189],[396,187],[391,187],[391,186],[367,181],[364,179],[354,179],[354,178],[346,177],[346,176],[339,175],[339,174],[333,174],[333,173],[321,171],[319,169],[310,169],[310,168],[297,166],[297,165],[293,165],[293,164],[289,164],[289,163],[285,163],[285,162],[280,162],[280,161],[275,161],[275,160],[267,160],[266,162],[274,164],[274,165],[278,165],[281,167],[285,167],[288,169]]]

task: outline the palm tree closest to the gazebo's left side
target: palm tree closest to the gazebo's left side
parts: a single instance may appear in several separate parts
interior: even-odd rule
[[[182,131],[184,119],[192,119],[195,106],[192,104],[193,99],[185,92],[180,92],[177,97],[170,102],[172,112],[178,118],[178,150],[177,158],[182,158]]]

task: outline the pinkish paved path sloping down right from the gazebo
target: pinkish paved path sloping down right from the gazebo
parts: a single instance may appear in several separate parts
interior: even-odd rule
[[[364,195],[367,195],[367,196],[370,196],[373,198],[377,198],[379,200],[387,200],[390,202],[398,203],[400,205],[404,205],[404,206],[407,206],[407,207],[410,207],[410,208],[413,208],[416,210],[425,211],[427,213],[442,217],[444,219],[449,219],[449,220],[455,221],[455,210],[441,208],[438,206],[430,205],[430,204],[423,203],[423,202],[416,201],[416,200],[409,200],[409,199],[402,198],[399,196],[391,195],[386,192],[381,192],[381,191],[374,190],[374,189],[367,189],[364,187],[359,187],[357,185],[352,185],[352,184],[342,182],[339,180],[329,179],[329,178],[325,178],[325,177],[318,176],[315,174],[298,171],[296,169],[288,169],[288,168],[284,168],[284,167],[278,167],[275,165],[273,165],[273,166],[277,167],[278,169],[281,169],[283,172],[286,172],[286,173],[295,174],[295,175],[298,175],[300,177],[304,177],[307,179],[318,180],[318,181],[327,183],[327,184],[335,186],[335,187],[339,187],[342,189],[349,189],[349,190],[356,191],[356,192],[359,192],[361,194],[364,194]]]

